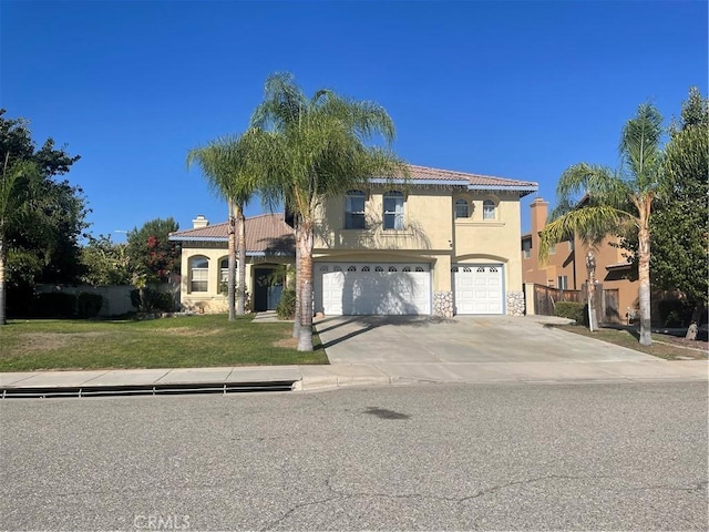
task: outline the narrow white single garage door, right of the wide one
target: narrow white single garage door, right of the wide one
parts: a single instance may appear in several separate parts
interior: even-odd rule
[[[502,264],[458,264],[453,266],[455,314],[502,314]]]

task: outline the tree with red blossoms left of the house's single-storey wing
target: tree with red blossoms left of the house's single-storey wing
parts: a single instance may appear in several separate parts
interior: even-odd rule
[[[136,286],[167,283],[171,274],[179,274],[179,246],[168,241],[179,228],[169,218],[155,218],[127,233],[129,270]]]

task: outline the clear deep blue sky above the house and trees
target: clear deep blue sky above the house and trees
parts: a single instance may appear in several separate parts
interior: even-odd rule
[[[91,232],[226,217],[185,155],[239,133],[276,71],[383,105],[424,166],[535,181],[617,166],[623,124],[707,94],[706,1],[7,1],[0,105],[80,154]],[[528,203],[523,200],[523,231]],[[247,214],[258,214],[254,202]]]

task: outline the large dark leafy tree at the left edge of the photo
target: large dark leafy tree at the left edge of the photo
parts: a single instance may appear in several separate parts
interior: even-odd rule
[[[6,323],[7,286],[70,283],[81,273],[78,238],[88,227],[83,192],[66,181],[80,156],[40,150],[24,119],[0,110],[0,324]]]

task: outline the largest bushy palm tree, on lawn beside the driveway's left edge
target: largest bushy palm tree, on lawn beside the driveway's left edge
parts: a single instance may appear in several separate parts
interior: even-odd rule
[[[405,175],[389,150],[394,125],[373,102],[353,101],[330,90],[306,96],[290,73],[266,80],[264,101],[251,116],[253,162],[268,203],[288,205],[296,217],[299,257],[296,291],[298,350],[312,350],[312,247],[317,211],[327,197],[364,184],[371,176]],[[384,147],[364,142],[380,139]]]

